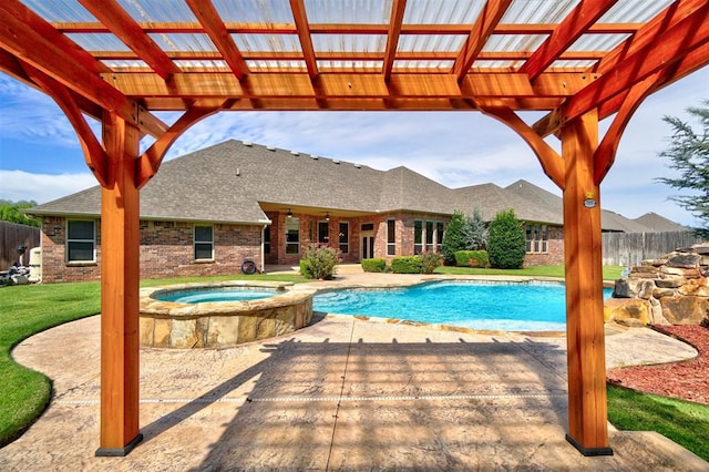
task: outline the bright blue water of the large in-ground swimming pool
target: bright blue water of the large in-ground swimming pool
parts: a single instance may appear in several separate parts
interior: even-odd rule
[[[609,297],[612,289],[604,290]],[[316,311],[395,318],[504,331],[564,331],[561,284],[439,281],[397,289],[347,289],[316,295]]]

